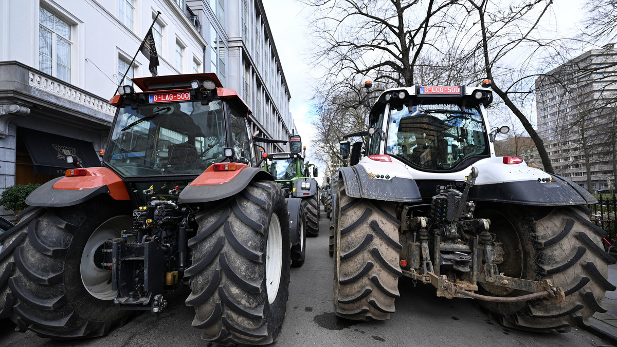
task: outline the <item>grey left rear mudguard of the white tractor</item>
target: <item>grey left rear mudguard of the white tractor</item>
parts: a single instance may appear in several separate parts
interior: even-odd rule
[[[391,179],[368,176],[362,165],[341,168],[347,196],[387,200],[392,202],[421,202],[420,190],[413,179],[393,177]]]

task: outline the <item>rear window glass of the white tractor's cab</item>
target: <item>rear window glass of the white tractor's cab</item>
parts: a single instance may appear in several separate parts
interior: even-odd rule
[[[465,158],[489,155],[484,122],[477,106],[456,104],[393,106],[386,153],[425,169],[454,168]]]

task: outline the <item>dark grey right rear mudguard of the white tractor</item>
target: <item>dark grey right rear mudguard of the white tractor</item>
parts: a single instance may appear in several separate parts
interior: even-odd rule
[[[474,201],[505,202],[531,206],[566,206],[597,203],[594,195],[578,184],[551,174],[549,182],[529,180],[481,184],[471,187]]]

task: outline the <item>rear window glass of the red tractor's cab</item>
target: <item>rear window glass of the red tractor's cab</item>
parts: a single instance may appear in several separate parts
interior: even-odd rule
[[[223,119],[221,100],[123,107],[104,160],[123,176],[201,174],[224,158]]]

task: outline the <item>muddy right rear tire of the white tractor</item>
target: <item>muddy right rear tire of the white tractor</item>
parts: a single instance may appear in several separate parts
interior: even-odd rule
[[[503,245],[500,272],[521,279],[548,279],[565,292],[565,301],[559,304],[546,299],[479,301],[502,325],[536,332],[567,331],[574,325],[588,325],[587,319],[595,312],[607,311],[601,304],[605,292],[615,290],[607,279],[608,264],[615,264],[615,259],[602,248],[605,232],[589,221],[583,208],[492,205],[476,216],[491,219],[490,231]],[[490,285],[479,287],[488,295],[526,294]]]

